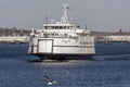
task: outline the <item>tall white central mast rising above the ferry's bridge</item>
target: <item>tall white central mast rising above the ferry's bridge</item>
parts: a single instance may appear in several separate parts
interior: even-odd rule
[[[62,24],[69,24],[69,21],[67,18],[67,10],[69,9],[68,4],[64,2],[63,7],[64,7],[64,12],[63,12],[63,16],[61,17],[61,23]]]

